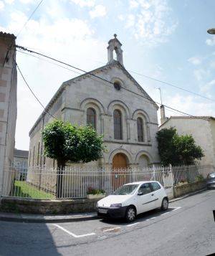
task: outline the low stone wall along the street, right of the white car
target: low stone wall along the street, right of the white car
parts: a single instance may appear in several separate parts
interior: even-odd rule
[[[196,181],[181,186],[173,186],[173,194],[174,197],[178,197],[204,188],[206,188],[206,181]]]

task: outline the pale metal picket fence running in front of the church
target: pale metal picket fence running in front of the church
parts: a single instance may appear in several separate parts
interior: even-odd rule
[[[180,182],[201,179],[200,175],[205,169],[208,171],[209,166],[153,166],[145,169],[67,166],[62,171],[45,167],[27,168],[25,171],[23,168],[6,167],[3,196],[34,199],[85,198],[89,187],[103,189],[108,195],[123,184],[152,180],[170,187]],[[22,179],[20,179],[21,176]]]

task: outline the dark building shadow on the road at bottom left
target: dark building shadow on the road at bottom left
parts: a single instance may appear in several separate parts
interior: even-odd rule
[[[44,223],[0,222],[0,255],[59,256],[51,231]]]

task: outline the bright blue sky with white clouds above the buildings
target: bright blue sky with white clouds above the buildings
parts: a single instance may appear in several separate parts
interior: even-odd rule
[[[0,0],[0,31],[17,35],[39,1]],[[90,71],[107,63],[108,41],[118,34],[126,70],[153,100],[161,102],[161,87],[163,104],[215,116],[215,36],[206,32],[215,27],[214,9],[214,0],[44,0],[16,44]],[[21,52],[16,62],[43,105],[79,75]],[[17,90],[16,148],[28,150],[43,109],[19,73]],[[166,108],[166,115],[181,114]]]

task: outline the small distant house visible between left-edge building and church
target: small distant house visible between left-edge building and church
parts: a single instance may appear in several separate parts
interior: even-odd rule
[[[14,169],[16,170],[16,180],[25,181],[27,179],[29,151],[14,149]]]

